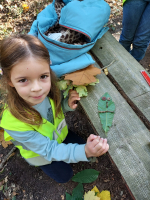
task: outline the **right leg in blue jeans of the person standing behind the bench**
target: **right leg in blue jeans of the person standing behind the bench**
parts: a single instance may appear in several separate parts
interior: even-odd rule
[[[131,50],[131,55],[137,61],[140,61],[142,60],[142,58],[144,58],[147,47],[149,45],[149,41],[150,41],[150,3],[148,3],[147,1],[147,6],[142,14],[139,25],[135,32],[133,40],[133,49]]]

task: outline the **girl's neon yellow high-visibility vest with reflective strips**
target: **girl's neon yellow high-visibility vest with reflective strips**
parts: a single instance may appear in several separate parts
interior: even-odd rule
[[[8,109],[4,110],[2,120],[0,122],[0,127],[11,130],[11,131],[37,131],[43,136],[49,137],[50,140],[53,140],[53,134],[55,134],[55,138],[57,142],[60,144],[64,141],[68,134],[68,128],[65,121],[64,114],[62,113],[61,119],[58,117],[55,118],[55,109],[54,109],[54,101],[50,99],[50,103],[52,106],[53,116],[54,116],[54,125],[43,118],[43,124],[40,126],[31,125],[20,121],[15,118]],[[15,146],[20,150],[20,154],[25,159],[34,158],[40,156],[39,154],[26,150],[21,143],[17,142],[12,138],[6,131],[4,132],[5,141],[12,141]]]

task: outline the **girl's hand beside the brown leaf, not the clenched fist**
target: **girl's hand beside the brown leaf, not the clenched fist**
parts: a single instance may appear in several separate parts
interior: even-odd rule
[[[70,108],[75,109],[77,107],[77,101],[80,100],[79,94],[75,90],[69,90],[68,105]]]

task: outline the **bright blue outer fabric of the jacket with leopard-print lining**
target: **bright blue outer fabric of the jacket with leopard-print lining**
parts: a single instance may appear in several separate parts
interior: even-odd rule
[[[29,32],[29,34],[38,37],[48,49],[52,69],[58,76],[82,69],[91,64],[93,59],[89,59],[90,55],[83,56],[84,59],[81,58],[82,62],[80,62],[79,56],[87,53],[94,46],[97,39],[105,34],[108,28],[103,26],[107,23],[110,15],[110,7],[104,0],[84,0],[82,2],[65,0],[64,2],[66,6],[61,10],[61,25],[71,29],[74,27],[77,31],[88,36],[90,42],[84,45],[67,44],[52,40],[44,34],[57,21],[54,7],[55,0],[38,14],[37,20],[33,22]],[[65,68],[64,64],[71,60],[71,65]],[[61,70],[59,74],[60,69],[65,70],[64,72]]]

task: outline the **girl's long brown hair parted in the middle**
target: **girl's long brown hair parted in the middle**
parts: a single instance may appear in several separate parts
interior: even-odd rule
[[[3,95],[5,108],[8,108],[13,116],[31,125],[41,125],[43,120],[40,113],[32,106],[28,105],[24,99],[18,95],[16,89],[8,84],[10,82],[11,69],[30,56],[43,59],[50,65],[48,50],[42,42],[34,36],[13,35],[1,41],[0,64],[3,71],[1,88],[5,93]],[[59,117],[62,114],[60,90],[57,86],[57,78],[51,69],[50,75],[51,89],[48,96],[54,100],[54,117]]]

